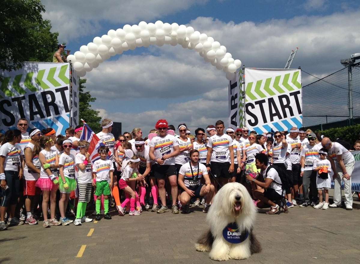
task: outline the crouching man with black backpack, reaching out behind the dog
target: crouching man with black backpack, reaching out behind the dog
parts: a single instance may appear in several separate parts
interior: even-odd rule
[[[270,211],[266,212],[266,214],[276,214],[280,210],[278,203],[281,202],[285,213],[288,213],[288,206],[284,198],[285,190],[282,189],[280,176],[275,168],[269,168],[270,165],[267,164],[267,160],[267,155],[264,153],[255,155],[256,168],[261,169],[261,174],[266,176],[265,182],[258,181],[251,177],[250,174],[246,175],[248,181],[254,182],[261,187],[261,189],[254,191],[255,199],[260,200],[256,206],[258,208],[267,208],[270,205]]]

